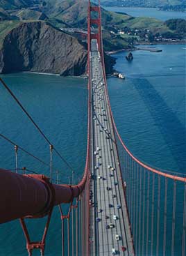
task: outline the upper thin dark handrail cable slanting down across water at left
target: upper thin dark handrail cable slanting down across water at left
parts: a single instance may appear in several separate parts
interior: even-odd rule
[[[22,111],[26,114],[26,116],[28,116],[28,119],[31,120],[31,122],[33,123],[33,125],[35,126],[35,128],[37,128],[37,130],[39,131],[39,133],[42,135],[42,137],[44,137],[44,139],[48,142],[48,144],[51,146],[53,145],[49,139],[47,138],[46,135],[44,135],[44,133],[42,132],[42,130],[40,129],[40,127],[37,125],[37,123],[35,123],[35,121],[33,120],[32,116],[30,114],[28,114],[28,112],[26,111],[26,109],[24,108],[24,106],[22,105],[22,103],[19,102],[19,100],[16,98],[16,96],[14,95],[14,93],[12,93],[12,91],[10,90],[10,88],[8,87],[8,85],[2,80],[2,78],[0,77],[0,82],[1,84],[3,84],[3,86],[6,88],[6,90],[10,93],[10,95],[12,96],[12,98],[14,98],[14,100],[17,102],[17,104],[19,105],[19,107],[21,107]],[[53,150],[58,154],[58,156],[61,158],[61,160],[67,165],[67,167],[69,167],[69,169],[74,172],[74,169],[71,167],[71,165],[69,165],[69,163],[67,163],[67,160],[65,160],[65,158],[63,158],[63,156],[57,151],[57,149],[53,146]]]

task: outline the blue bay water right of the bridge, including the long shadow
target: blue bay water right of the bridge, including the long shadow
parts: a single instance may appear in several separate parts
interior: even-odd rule
[[[114,55],[126,80],[108,80],[112,111],[135,156],[159,169],[186,172],[185,47],[156,47],[162,52],[133,52],[131,63],[126,52]]]

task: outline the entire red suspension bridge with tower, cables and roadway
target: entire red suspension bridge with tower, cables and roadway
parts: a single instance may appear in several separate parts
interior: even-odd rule
[[[45,163],[0,135],[15,150],[15,170],[0,170],[0,223],[20,220],[29,256],[33,250],[44,255],[55,206],[62,223],[62,256],[185,256],[186,178],[142,163],[121,140],[108,96],[100,3],[92,6],[89,1],[87,24],[88,123],[83,178],[74,184],[75,170],[0,79],[50,149],[50,163]],[[26,168],[23,174],[18,173],[17,151],[47,165],[50,178]],[[71,169],[72,184],[53,179],[53,153]],[[69,205],[67,214],[63,211],[65,204]],[[47,222],[42,238],[32,241],[25,220],[44,216]]]

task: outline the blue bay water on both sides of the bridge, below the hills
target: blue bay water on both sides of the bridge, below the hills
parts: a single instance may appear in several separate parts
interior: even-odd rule
[[[185,50],[183,45],[159,45],[162,52],[115,54],[115,68],[126,80],[108,79],[115,121],[126,145],[150,165],[185,171]],[[10,89],[44,130],[72,167],[76,180],[85,167],[87,143],[87,81],[28,73],[4,75]],[[20,146],[49,163],[49,146],[0,86],[0,127]],[[0,139],[0,163],[15,168],[13,146]],[[70,170],[54,156],[55,170],[67,182]],[[19,167],[49,175],[49,170],[19,152]],[[49,169],[49,168],[48,168]],[[44,220],[29,221],[34,240],[39,239]],[[54,211],[47,238],[47,256],[61,255],[60,215]],[[0,227],[0,256],[25,256],[25,241],[19,221]],[[39,252],[33,255],[40,255]]]

